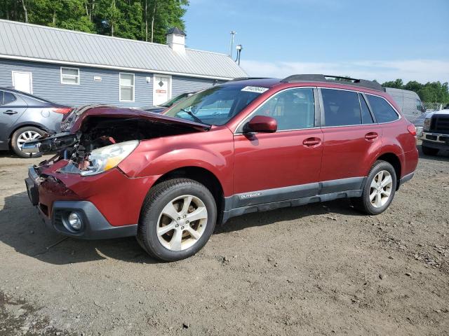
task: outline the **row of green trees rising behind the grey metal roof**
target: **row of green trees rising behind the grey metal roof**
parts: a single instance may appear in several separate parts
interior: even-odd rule
[[[0,0],[0,18],[165,43],[188,0]]]

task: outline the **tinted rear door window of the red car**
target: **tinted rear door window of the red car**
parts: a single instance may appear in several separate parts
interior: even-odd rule
[[[321,89],[325,126],[361,125],[357,92]]]

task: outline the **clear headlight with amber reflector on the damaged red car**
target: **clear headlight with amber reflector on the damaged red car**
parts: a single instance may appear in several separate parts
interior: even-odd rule
[[[80,174],[82,176],[90,176],[106,172],[119,165],[134,149],[138,146],[139,141],[126,141],[120,144],[114,144],[102,148],[95,149],[89,155],[91,164],[87,167],[87,171]]]

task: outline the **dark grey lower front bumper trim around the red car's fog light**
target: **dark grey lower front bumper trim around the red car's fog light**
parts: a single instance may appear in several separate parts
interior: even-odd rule
[[[41,177],[36,173],[34,167],[29,167],[28,178],[25,179],[29,200],[39,210],[46,226],[69,237],[79,239],[112,239],[119,237],[131,237],[137,234],[138,225],[111,225],[105,216],[95,207],[92,202],[85,200],[55,201],[51,211],[39,202],[39,185]],[[81,218],[80,230],[74,230],[68,224],[67,218],[70,213],[75,212]]]

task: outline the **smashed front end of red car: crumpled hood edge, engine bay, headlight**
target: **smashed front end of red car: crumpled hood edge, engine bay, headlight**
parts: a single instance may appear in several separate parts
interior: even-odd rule
[[[90,176],[119,165],[141,140],[168,137],[191,132],[205,132],[210,126],[188,120],[161,116],[157,113],[111,106],[75,110],[69,117],[69,132],[29,141],[25,153],[57,152],[51,162],[67,160],[60,172]],[[66,123],[67,124],[67,123]]]

